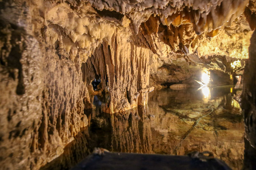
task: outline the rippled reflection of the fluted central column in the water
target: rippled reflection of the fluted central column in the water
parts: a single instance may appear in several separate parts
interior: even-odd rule
[[[113,151],[152,153],[150,122],[143,121],[145,118],[146,109],[143,106],[114,116],[111,138]]]

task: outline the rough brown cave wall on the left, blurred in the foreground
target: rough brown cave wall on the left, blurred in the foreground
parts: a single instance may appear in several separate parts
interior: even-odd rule
[[[45,43],[33,5],[16,3],[1,2],[0,161],[39,169],[87,125],[84,83],[80,68]]]

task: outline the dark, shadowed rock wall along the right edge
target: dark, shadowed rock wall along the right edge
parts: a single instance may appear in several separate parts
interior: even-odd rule
[[[244,69],[243,92],[241,94],[241,107],[244,111],[245,123],[245,151],[244,169],[255,169],[256,158],[256,108],[255,108],[255,82],[256,82],[256,33],[252,34],[249,47],[249,60]]]

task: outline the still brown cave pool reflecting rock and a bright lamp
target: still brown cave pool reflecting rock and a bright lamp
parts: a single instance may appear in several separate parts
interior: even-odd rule
[[[92,96],[93,109],[85,110],[88,128],[44,168],[68,169],[94,147],[102,147],[111,152],[172,155],[210,151],[232,169],[242,169],[243,114],[234,100],[239,92],[233,86],[164,88],[149,93],[148,105],[113,115],[100,109],[107,96]]]

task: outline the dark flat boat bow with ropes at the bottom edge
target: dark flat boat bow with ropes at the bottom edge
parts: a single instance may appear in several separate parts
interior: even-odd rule
[[[125,160],[125,161],[124,161]],[[156,170],[156,169],[189,169],[189,170],[231,170],[218,159],[201,161],[189,156],[171,156],[156,154],[104,153],[90,155],[72,170]]]

